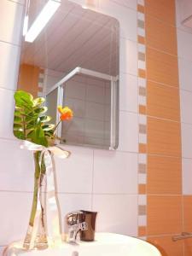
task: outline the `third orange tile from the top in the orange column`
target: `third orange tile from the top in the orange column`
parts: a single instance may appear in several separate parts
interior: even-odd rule
[[[146,64],[148,80],[178,87],[177,56],[147,47]]]

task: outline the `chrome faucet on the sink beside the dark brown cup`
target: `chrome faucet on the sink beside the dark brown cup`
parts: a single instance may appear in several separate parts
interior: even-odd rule
[[[67,241],[76,243],[79,231],[87,230],[88,226],[84,221],[84,212],[69,212],[66,216],[68,237]]]

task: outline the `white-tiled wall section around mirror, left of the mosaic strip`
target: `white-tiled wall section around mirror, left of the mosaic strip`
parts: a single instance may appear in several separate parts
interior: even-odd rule
[[[137,236],[137,2],[104,0],[97,8],[121,26],[119,148],[67,147],[71,157],[56,160],[61,211],[64,217],[77,209],[96,210],[97,230]],[[32,153],[21,150],[12,133],[22,9],[22,0],[0,1],[1,248],[25,236],[32,203]]]

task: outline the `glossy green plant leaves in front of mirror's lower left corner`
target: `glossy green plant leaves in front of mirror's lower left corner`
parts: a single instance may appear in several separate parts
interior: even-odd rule
[[[26,91],[15,92],[15,137],[49,146],[49,141],[54,139],[55,125],[48,124],[51,117],[44,114],[47,112],[44,102],[43,97],[33,98]]]

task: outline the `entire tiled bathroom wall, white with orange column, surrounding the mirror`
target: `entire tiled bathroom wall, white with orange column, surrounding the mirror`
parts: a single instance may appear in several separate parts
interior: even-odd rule
[[[71,157],[55,159],[62,216],[98,211],[97,230],[189,256],[191,241],[172,242],[192,232],[192,34],[181,1],[177,16],[174,0],[73,1],[120,22],[119,148],[66,147]],[[22,9],[22,0],[0,2],[1,248],[25,236],[32,202],[32,153],[12,134]]]

